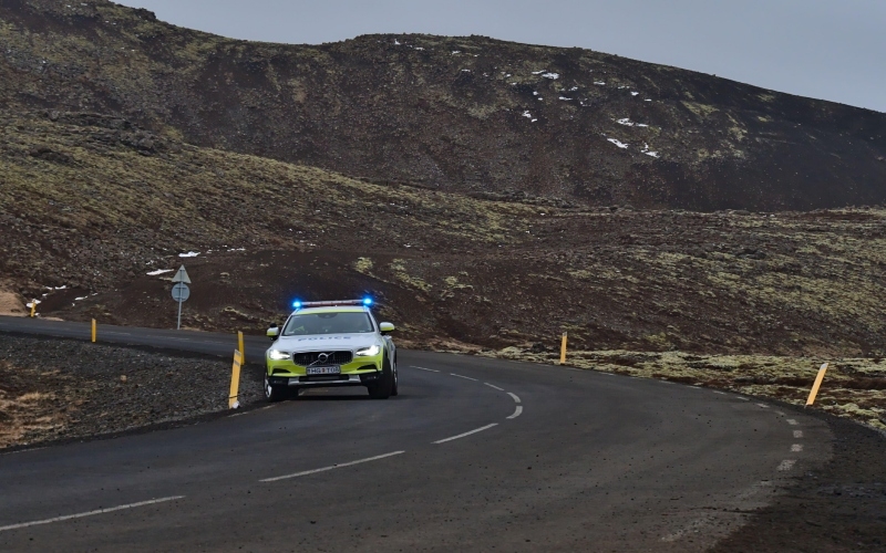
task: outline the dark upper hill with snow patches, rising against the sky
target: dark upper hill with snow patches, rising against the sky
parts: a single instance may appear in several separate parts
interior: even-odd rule
[[[884,114],[482,36],[250,43],[103,0],[4,0],[0,105],[493,199],[770,211],[886,199]]]

